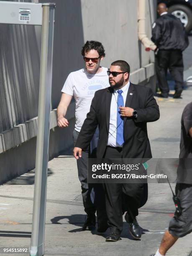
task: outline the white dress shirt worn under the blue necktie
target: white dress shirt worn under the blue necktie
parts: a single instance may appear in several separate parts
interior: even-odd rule
[[[128,81],[125,86],[119,90],[122,90],[123,102],[125,106],[127,93],[129,89],[130,82]],[[118,90],[114,90],[112,99],[111,99],[111,106],[110,106],[110,122],[109,122],[109,137],[108,137],[108,146],[112,147],[119,147],[116,144],[116,134],[117,134],[117,99],[118,99]],[[122,106],[122,107],[124,107]]]

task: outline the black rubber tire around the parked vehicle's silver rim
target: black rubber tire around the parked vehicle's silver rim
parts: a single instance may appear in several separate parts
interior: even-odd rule
[[[172,13],[172,14],[174,14],[174,12],[177,10],[178,10],[178,13],[179,11],[182,11],[183,13],[185,13],[185,15],[188,18],[188,22],[187,22],[187,25],[185,26],[185,29],[187,32],[191,31],[192,30],[192,10],[185,5],[172,5],[168,9],[169,13]]]

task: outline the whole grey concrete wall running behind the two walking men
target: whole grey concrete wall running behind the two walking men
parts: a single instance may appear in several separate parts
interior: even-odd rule
[[[59,103],[61,87],[69,72],[83,67],[80,51],[87,40],[101,41],[105,46],[103,66],[124,59],[131,66],[131,82],[154,89],[154,54],[146,52],[138,41],[136,0],[54,2],[53,109]],[[149,37],[155,2],[146,1]],[[35,166],[41,27],[0,24],[0,35],[0,182],[3,183]],[[74,107],[72,102],[67,113],[68,129],[56,127],[56,111],[51,111],[50,158],[72,148]]]

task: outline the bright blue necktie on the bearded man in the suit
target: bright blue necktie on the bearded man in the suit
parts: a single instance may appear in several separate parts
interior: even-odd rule
[[[122,90],[118,90],[118,100],[117,100],[117,135],[116,135],[116,143],[121,146],[124,143],[123,140],[123,118],[120,116],[119,107],[124,107]]]

